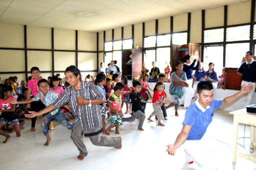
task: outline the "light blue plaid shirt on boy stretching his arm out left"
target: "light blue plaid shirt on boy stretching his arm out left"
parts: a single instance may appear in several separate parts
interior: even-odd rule
[[[48,91],[46,96],[44,96],[42,94],[42,92],[38,93],[36,96],[34,96],[32,99],[33,101],[38,101],[41,100],[42,103],[47,107],[50,104],[52,104],[53,102],[56,101],[56,99],[58,98],[58,95],[55,92],[52,91]],[[55,115],[58,112],[59,109],[55,109],[53,111],[50,112],[50,115]]]

